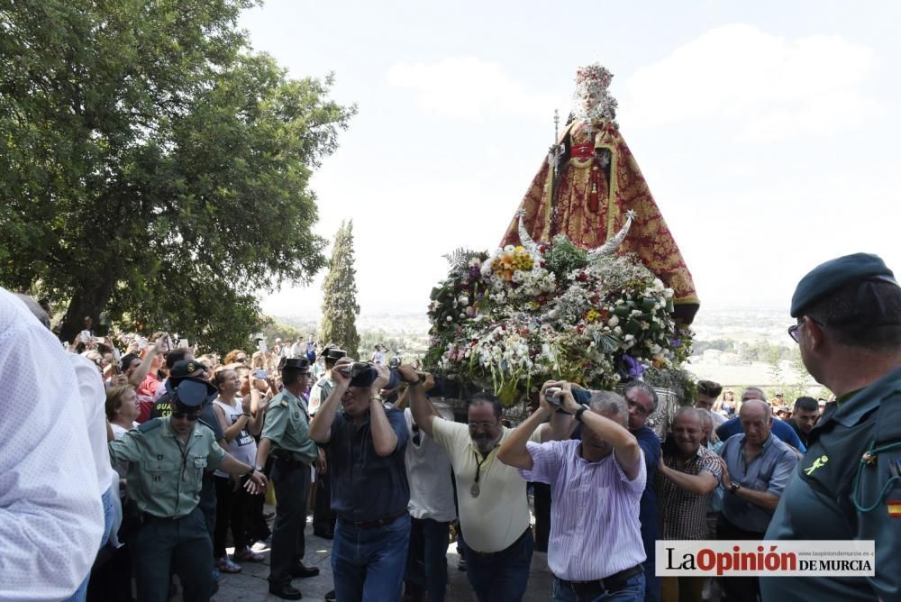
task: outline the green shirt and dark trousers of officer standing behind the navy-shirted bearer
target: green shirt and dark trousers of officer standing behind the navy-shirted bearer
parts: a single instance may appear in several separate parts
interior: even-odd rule
[[[306,402],[287,389],[272,397],[260,437],[272,442],[275,458],[270,477],[276,492],[276,520],[268,579],[271,587],[281,588],[290,584],[292,571],[304,558],[310,463],[319,455],[310,439]]]

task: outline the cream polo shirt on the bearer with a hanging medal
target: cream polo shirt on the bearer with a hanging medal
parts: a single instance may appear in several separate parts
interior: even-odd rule
[[[504,428],[500,442],[511,432],[512,429]],[[532,524],[525,480],[519,471],[497,460],[496,447],[482,462],[479,494],[473,497],[471,488],[476,480],[478,450],[469,438],[469,426],[435,418],[432,434],[451,458],[466,544],[476,552],[500,552],[510,547]],[[529,441],[541,442],[541,429],[532,433]],[[478,459],[482,460],[481,454]]]

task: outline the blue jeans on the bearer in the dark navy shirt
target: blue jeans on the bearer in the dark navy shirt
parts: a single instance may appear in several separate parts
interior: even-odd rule
[[[341,602],[399,600],[409,546],[409,515],[374,529],[338,519],[332,542],[336,597]]]

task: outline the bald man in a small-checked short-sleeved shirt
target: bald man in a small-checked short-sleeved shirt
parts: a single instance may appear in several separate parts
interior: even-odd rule
[[[673,419],[672,433],[663,445],[660,470],[654,488],[660,506],[660,539],[707,539],[706,510],[710,495],[720,484],[718,456],[704,442],[704,418],[692,407],[681,407]],[[701,599],[704,577],[660,579],[663,602]]]

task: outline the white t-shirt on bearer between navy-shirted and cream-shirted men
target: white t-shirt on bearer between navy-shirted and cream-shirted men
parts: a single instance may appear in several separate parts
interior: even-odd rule
[[[404,418],[410,432],[404,452],[406,479],[410,483],[410,515],[431,518],[439,523],[451,522],[457,517],[453,505],[451,460],[441,445],[423,430],[418,433],[419,445],[414,442],[416,433],[409,407],[404,410]]]

